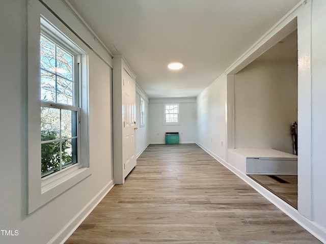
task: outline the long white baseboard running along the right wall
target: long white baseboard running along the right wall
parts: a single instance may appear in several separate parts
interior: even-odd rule
[[[298,210],[296,210],[294,207],[290,206],[288,203],[283,201],[281,198],[277,197],[270,191],[268,191],[266,188],[259,185],[255,180],[247,176],[245,173],[239,171],[232,165],[228,164],[226,161],[212,153],[210,150],[205,148],[200,143],[196,143],[198,146],[200,146],[206,153],[208,153],[210,156],[212,156],[214,159],[219,161],[221,164],[223,164],[226,168],[228,168],[230,171],[232,171],[235,175],[237,175],[239,178],[241,178],[244,182],[246,182],[249,186],[251,186],[253,189],[255,189],[258,193],[260,193],[263,197],[265,197],[269,202],[273,203],[276,207],[278,207],[281,211],[284,212],[287,216],[289,216],[292,220],[294,220],[296,223],[301,225],[303,228],[305,228],[307,231],[309,231],[312,235],[314,235],[317,239],[319,239],[321,242],[326,243],[326,229],[319,226],[315,222],[308,220],[306,217],[300,214]]]

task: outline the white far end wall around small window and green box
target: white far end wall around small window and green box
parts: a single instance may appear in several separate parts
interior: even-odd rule
[[[164,125],[164,104],[178,103],[180,125]],[[195,143],[196,98],[151,98],[149,100],[149,141],[165,144],[166,132],[179,132],[180,143]]]

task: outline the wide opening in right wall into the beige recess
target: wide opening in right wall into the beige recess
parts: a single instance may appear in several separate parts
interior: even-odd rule
[[[289,33],[253,62],[235,73],[233,79],[233,152],[270,148],[272,156],[263,163],[274,169],[244,171],[260,185],[297,208],[297,163],[274,164],[275,150],[297,160],[291,126],[297,123],[297,30]],[[300,123],[300,121],[299,121]],[[241,149],[238,149],[241,148]],[[246,151],[246,148],[248,150]],[[261,152],[258,153],[261,155]],[[300,154],[300,151],[298,151]],[[259,156],[263,158],[263,156]],[[257,157],[253,156],[256,160]],[[268,162],[267,162],[268,161]],[[256,164],[256,163],[255,163]],[[256,164],[257,165],[257,164]],[[283,168],[284,166],[284,168]],[[293,168],[289,170],[289,167]],[[258,168],[261,166],[258,165]],[[274,173],[273,173],[274,172]]]

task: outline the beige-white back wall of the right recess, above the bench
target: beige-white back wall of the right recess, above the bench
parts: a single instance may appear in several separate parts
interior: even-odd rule
[[[296,55],[293,60],[258,59],[235,74],[234,113],[235,148],[294,154],[290,128],[297,121]]]

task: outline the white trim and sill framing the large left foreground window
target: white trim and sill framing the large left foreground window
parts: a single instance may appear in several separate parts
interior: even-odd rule
[[[89,165],[88,133],[88,55],[80,53],[81,85],[79,88],[80,107],[80,165],[67,167],[49,177],[41,178],[41,101],[40,101],[40,34],[41,17],[51,21],[42,21],[55,36],[62,36],[65,43],[71,42],[88,50],[84,43],[76,38],[69,29],[54,17],[40,3],[28,5],[28,212],[29,214],[53,198],[67,191],[91,174]],[[60,29],[60,30],[59,30]],[[78,159],[79,161],[79,159]]]

